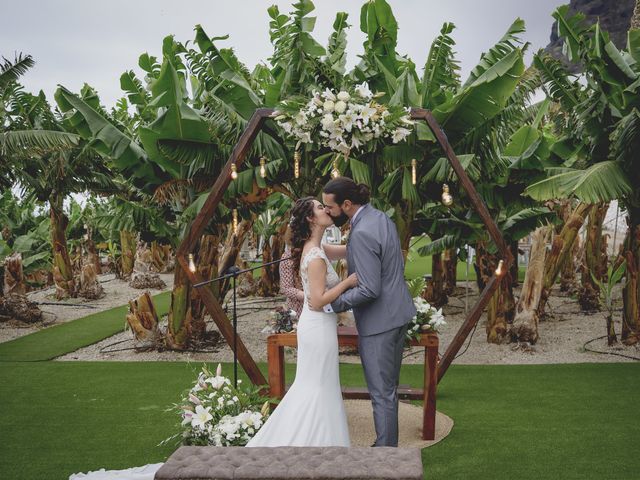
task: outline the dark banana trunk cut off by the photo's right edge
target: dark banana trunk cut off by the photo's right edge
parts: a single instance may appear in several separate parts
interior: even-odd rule
[[[630,209],[627,217],[629,230],[624,243],[627,260],[626,284],[622,290],[622,332],[626,345],[640,340],[640,209]]]

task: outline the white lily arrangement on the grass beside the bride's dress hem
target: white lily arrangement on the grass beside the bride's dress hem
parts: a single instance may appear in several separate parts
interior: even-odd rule
[[[162,443],[179,438],[183,445],[245,446],[269,417],[270,400],[259,387],[241,383],[234,388],[221,365],[215,375],[203,366],[194,386],[171,409],[180,415],[182,432]]]

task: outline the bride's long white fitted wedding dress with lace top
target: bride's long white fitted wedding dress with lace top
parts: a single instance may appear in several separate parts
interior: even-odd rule
[[[337,315],[309,309],[307,269],[315,258],[327,264],[327,289],[340,282],[323,249],[310,249],[300,262],[305,300],[298,320],[296,378],[247,447],[350,446],[340,388]]]

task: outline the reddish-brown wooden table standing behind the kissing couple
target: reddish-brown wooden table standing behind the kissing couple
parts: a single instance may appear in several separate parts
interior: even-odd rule
[[[420,340],[411,341],[411,346],[424,347],[424,385],[423,388],[400,386],[398,396],[401,399],[422,400],[422,438],[433,440],[436,430],[436,386],[438,381],[438,335],[425,333]],[[284,347],[296,347],[298,340],[295,332],[277,333],[267,338],[267,361],[269,364],[269,392],[272,397],[282,398],[285,394]],[[338,345],[358,346],[358,333],[354,327],[338,327]],[[367,388],[342,388],[343,398],[368,399]]]

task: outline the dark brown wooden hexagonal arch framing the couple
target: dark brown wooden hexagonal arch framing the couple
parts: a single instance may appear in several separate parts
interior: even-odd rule
[[[180,266],[184,269],[186,274],[189,276],[189,279],[194,284],[203,282],[206,279],[201,278],[198,272],[191,272],[189,270],[187,255],[193,249],[198,239],[202,235],[202,232],[204,231],[206,224],[209,222],[213,213],[216,210],[216,207],[222,200],[222,197],[225,191],[227,190],[229,183],[231,183],[231,164],[235,163],[237,167],[240,167],[242,165],[242,163],[244,162],[244,158],[247,152],[249,151],[249,148],[251,147],[251,144],[254,142],[256,138],[256,135],[264,125],[264,122],[268,118],[270,118],[273,115],[273,113],[274,113],[273,109],[260,108],[260,109],[257,109],[254,112],[254,114],[251,116],[251,118],[249,119],[249,123],[247,124],[247,127],[245,128],[244,132],[240,136],[240,139],[238,140],[238,143],[235,145],[233,151],[231,152],[231,156],[229,157],[229,160],[227,160],[226,165],[224,166],[217,180],[213,184],[211,193],[207,197],[204,203],[204,206],[200,210],[200,213],[198,214],[198,216],[193,220],[193,222],[189,226],[189,230],[187,231],[187,234],[185,235],[184,240],[182,241],[180,247],[176,251],[176,257],[178,259],[178,262],[180,263]],[[444,154],[449,160],[451,167],[453,168],[454,172],[458,176],[460,180],[460,185],[462,185],[462,188],[464,188],[464,190],[467,192],[467,195],[469,196],[469,199],[473,207],[478,212],[478,215],[480,215],[480,218],[486,225],[490,237],[495,242],[498,248],[498,251],[502,256],[502,259],[504,260],[502,272],[507,271],[511,265],[511,262],[513,261],[513,256],[509,248],[507,248],[507,244],[505,243],[504,238],[502,237],[502,234],[498,230],[497,225],[489,215],[489,211],[487,210],[487,207],[484,201],[482,200],[480,195],[478,195],[478,192],[474,188],[473,183],[471,183],[471,180],[469,179],[466,172],[462,168],[462,165],[460,164],[460,161],[458,160],[458,158],[456,157],[456,154],[451,148],[451,145],[449,144],[449,141],[447,140],[447,137],[444,131],[440,128],[440,126],[438,125],[438,122],[436,121],[436,119],[434,118],[434,116],[431,114],[429,110],[425,110],[422,108],[413,108],[411,109],[411,118],[413,120],[426,122],[426,124],[429,126],[429,128],[435,135],[438,143],[440,144],[440,146],[442,147],[442,150],[444,151]],[[504,277],[501,273],[496,273],[491,277],[491,279],[485,285],[484,290],[480,294],[478,302],[469,311],[467,318],[465,319],[464,323],[460,327],[460,330],[458,330],[458,332],[456,333],[456,336],[454,337],[453,341],[449,345],[449,348],[447,348],[447,351],[440,359],[440,362],[438,364],[438,381],[443,377],[443,375],[447,371],[447,368],[449,367],[452,360],[454,359],[456,353],[460,350],[460,347],[462,346],[465,339],[469,335],[469,332],[480,319],[480,315],[482,314],[484,308],[487,306],[487,303],[491,299],[491,296],[496,291],[496,289],[498,288],[498,285],[500,284],[500,281],[502,281],[503,278]],[[211,318],[214,320],[214,322],[220,329],[222,336],[225,338],[229,346],[233,349],[234,348],[233,347],[234,345],[233,328],[231,326],[231,322],[229,321],[229,318],[224,313],[224,310],[222,309],[220,302],[218,302],[218,299],[213,295],[211,290],[208,288],[198,288],[196,291],[202,298],[202,301],[205,304],[207,311],[211,315]],[[246,346],[244,345],[242,340],[239,338],[239,336],[236,336],[236,342],[237,342],[236,353],[238,356],[238,361],[244,368],[245,372],[247,373],[251,381],[255,385],[266,384],[267,381],[262,375],[262,372],[260,372],[260,370],[258,369],[258,366],[253,360],[253,357],[251,356],[251,354],[249,353],[249,351],[247,350]]]

